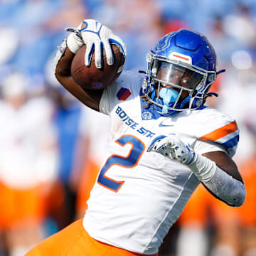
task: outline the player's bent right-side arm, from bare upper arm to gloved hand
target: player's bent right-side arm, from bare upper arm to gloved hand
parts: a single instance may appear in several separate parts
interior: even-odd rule
[[[216,198],[229,206],[242,206],[245,184],[235,162],[223,151],[196,154],[175,135],[153,139],[148,151],[156,151],[188,166]]]

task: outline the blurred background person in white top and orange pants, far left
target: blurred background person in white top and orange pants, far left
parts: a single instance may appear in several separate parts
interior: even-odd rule
[[[53,106],[46,97],[29,97],[26,89],[26,77],[19,73],[0,87],[0,228],[13,256],[44,238],[42,225],[58,163]]]

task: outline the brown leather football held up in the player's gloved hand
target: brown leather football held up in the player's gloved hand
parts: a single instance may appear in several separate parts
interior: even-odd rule
[[[100,90],[110,85],[122,73],[125,57],[119,46],[112,44],[114,56],[113,65],[107,64],[105,50],[102,50],[102,68],[95,66],[95,53],[92,54],[90,66],[85,66],[86,45],[82,46],[71,63],[71,75],[73,80],[83,89]]]

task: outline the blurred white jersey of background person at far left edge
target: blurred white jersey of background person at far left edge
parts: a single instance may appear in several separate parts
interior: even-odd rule
[[[45,97],[30,99],[18,109],[0,101],[0,181],[6,186],[28,189],[56,178],[53,110]]]

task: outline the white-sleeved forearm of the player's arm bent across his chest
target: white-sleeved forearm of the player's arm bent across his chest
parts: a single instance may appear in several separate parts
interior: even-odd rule
[[[242,181],[233,178],[214,161],[199,154],[195,155],[194,161],[188,167],[217,198],[230,206],[242,206],[246,196]]]

